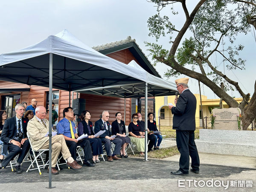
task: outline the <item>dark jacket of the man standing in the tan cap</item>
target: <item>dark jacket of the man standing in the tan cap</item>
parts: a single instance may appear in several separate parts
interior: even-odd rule
[[[196,99],[189,89],[180,94],[176,107],[172,108],[173,129],[195,130]]]

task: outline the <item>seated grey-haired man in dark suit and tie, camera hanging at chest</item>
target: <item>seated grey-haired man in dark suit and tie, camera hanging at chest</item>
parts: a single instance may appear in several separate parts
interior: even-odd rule
[[[29,140],[26,134],[26,127],[29,120],[22,117],[25,111],[24,105],[17,104],[15,106],[16,116],[6,119],[4,122],[1,135],[1,140],[3,141],[3,153],[6,154],[8,149],[9,154],[1,163],[0,169],[6,167],[7,164],[17,154],[19,154],[19,158],[15,165],[15,173],[22,173],[20,163],[22,163],[30,148]]]

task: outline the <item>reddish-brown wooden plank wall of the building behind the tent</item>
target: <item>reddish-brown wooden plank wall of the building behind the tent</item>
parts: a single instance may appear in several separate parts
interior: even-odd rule
[[[128,64],[131,60],[134,60],[138,63],[136,58],[132,55],[129,49],[120,50],[118,52],[114,52],[108,54],[109,57],[116,59],[122,63]],[[21,102],[27,102],[28,105],[31,105],[32,99],[38,100],[38,106],[43,105],[46,106],[47,102],[47,92],[49,91],[46,87],[40,87],[36,85],[26,85],[20,83],[13,83],[8,81],[0,81],[0,88],[30,88],[30,92],[13,92],[13,93],[0,93],[1,95],[12,95],[12,94],[20,94]],[[53,89],[56,90],[56,89]],[[71,92],[72,95],[72,92]],[[89,94],[79,94],[79,98],[86,99],[86,110],[91,112],[91,121],[94,123],[99,119],[99,115],[103,110],[108,110],[110,113],[109,122],[113,122],[116,120],[115,113],[121,112],[122,119],[124,119],[124,99],[123,98],[115,98],[108,96],[94,96]],[[2,97],[1,97],[2,99]],[[59,120],[63,118],[62,111],[64,108],[69,106],[69,92],[64,90],[59,90],[59,110],[58,116]],[[76,93],[74,94],[74,99],[76,99]],[[0,101],[0,105],[2,102]],[[2,108],[2,106],[1,106]],[[131,122],[131,99],[126,99],[126,125]]]

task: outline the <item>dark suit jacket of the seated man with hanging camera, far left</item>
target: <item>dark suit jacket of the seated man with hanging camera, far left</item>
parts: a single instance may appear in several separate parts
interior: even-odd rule
[[[22,130],[23,130],[23,135],[25,138],[27,138],[26,134],[26,127],[28,124],[29,119],[21,118],[22,122]],[[7,153],[7,148],[8,148],[8,143],[10,140],[12,140],[17,133],[17,126],[16,126],[16,116],[6,119],[3,125],[3,131],[1,134],[1,141],[3,141],[3,153]]]

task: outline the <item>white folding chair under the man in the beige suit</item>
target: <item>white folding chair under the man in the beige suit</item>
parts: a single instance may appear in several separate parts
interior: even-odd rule
[[[32,149],[32,153],[33,153],[33,155],[34,155],[35,158],[34,158],[34,160],[32,161],[32,163],[30,164],[29,168],[26,170],[26,172],[31,171],[31,170],[34,170],[34,169],[38,169],[39,174],[42,175],[40,168],[43,168],[43,169],[44,169],[47,165],[49,165],[49,160],[48,160],[46,163],[44,163],[44,159],[43,159],[43,157],[42,157],[42,154],[43,154],[44,152],[46,152],[46,151],[49,151],[49,149],[39,149],[39,150],[35,151],[35,150],[33,149],[32,144],[31,144],[31,141],[30,141],[30,137],[29,137],[29,133],[28,133],[28,132],[27,132],[27,136],[28,136],[28,139],[29,139],[29,144],[30,144],[31,149]],[[35,152],[38,152],[38,154],[36,155]],[[43,163],[42,165],[39,165],[39,164],[38,164],[38,160],[37,160],[38,157],[41,157],[41,160],[42,160],[42,163]],[[34,166],[33,166],[33,163],[36,163],[37,168],[30,169],[31,166],[34,167]]]

